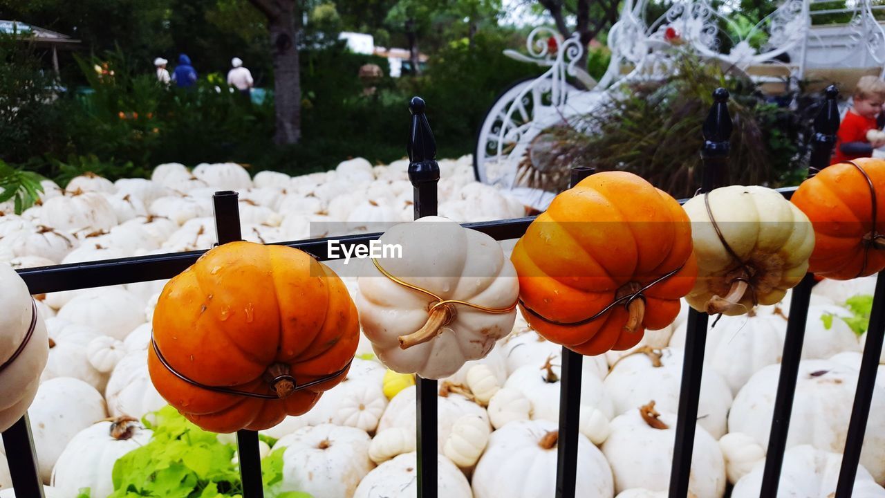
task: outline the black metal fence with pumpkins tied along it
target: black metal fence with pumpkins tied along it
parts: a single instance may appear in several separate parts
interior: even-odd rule
[[[704,123],[702,191],[710,191],[720,183],[720,178],[723,176],[722,173],[727,164],[728,137],[731,133],[727,98],[725,90],[717,90],[710,117]],[[835,98],[835,89],[832,87],[827,89],[826,105],[823,106],[819,118],[815,121],[816,135],[812,144],[812,174],[827,167],[829,163],[829,154],[835,143],[834,135],[839,124],[838,114],[835,113]],[[436,183],[440,176],[439,166],[435,161],[434,138],[424,115],[424,107],[424,102],[419,98],[412,99],[410,103],[412,127],[408,142],[409,178],[414,186],[414,215],[416,219],[436,214]],[[592,171],[589,169],[573,172],[572,183],[580,181],[582,177],[590,173]],[[795,190],[795,187],[779,189],[785,198],[789,198]],[[236,198],[236,192],[231,191],[216,192],[213,196],[219,243],[238,240],[241,237]],[[533,219],[533,217],[526,217],[494,222],[464,223],[463,226],[479,230],[496,240],[506,240],[521,237]],[[339,241],[342,246],[350,248],[355,245],[368,245],[370,241],[380,236],[380,233],[373,233],[335,237],[335,240]],[[327,253],[327,240],[329,239],[321,238],[276,244],[295,247],[306,253],[311,253],[320,261],[327,261],[332,259]],[[135,284],[171,278],[188,268],[203,253],[205,251],[91,261],[45,268],[20,269],[18,273],[25,280],[29,292],[32,294],[70,291],[112,284]],[[885,276],[883,274],[885,272],[881,272],[878,276],[873,297],[873,314],[870,318],[866,347],[858,377],[857,395],[848,427],[842,471],[836,490],[837,498],[848,498],[851,495],[866,431],[866,421],[881,355],[882,338],[885,334]],[[812,284],[812,277],[806,276],[792,295],[761,496],[769,497],[777,494]],[[670,498],[684,498],[688,495],[697,404],[700,396],[701,375],[704,369],[707,323],[708,315],[693,310],[689,312],[685,363],[682,370],[676,440],[674,441]],[[575,479],[577,472],[580,471],[577,469],[576,455],[581,398],[581,361],[580,354],[564,349],[560,386],[557,484],[555,490],[550,490],[550,493],[555,494],[558,498],[573,498],[575,496]],[[435,498],[437,475],[436,382],[419,379],[417,388],[418,494],[421,498]],[[31,437],[27,415],[4,432],[3,440],[6,454],[14,455],[14,457],[8,458],[8,463],[12,484],[17,495],[22,498],[42,498],[42,485],[37,471],[38,463],[35,458],[34,440]],[[260,498],[263,496],[263,490],[261,462],[258,455],[258,434],[251,431],[239,432],[237,445],[240,453],[243,497]]]

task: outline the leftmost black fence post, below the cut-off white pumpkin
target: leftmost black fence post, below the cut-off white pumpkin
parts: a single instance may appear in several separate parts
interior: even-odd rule
[[[27,412],[3,433],[3,444],[16,496],[43,498],[43,483]]]

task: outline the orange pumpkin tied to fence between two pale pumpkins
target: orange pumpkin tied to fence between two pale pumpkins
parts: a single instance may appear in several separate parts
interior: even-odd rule
[[[560,193],[511,259],[527,322],[589,355],[628,349],[646,327],[673,323],[697,276],[688,216],[666,192],[625,172],[591,175]],[[627,298],[643,289],[642,298]]]

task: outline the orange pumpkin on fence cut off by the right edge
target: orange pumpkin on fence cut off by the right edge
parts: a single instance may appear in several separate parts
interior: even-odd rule
[[[885,160],[853,162],[826,167],[799,185],[791,199],[814,227],[808,270],[835,280],[885,268]]]

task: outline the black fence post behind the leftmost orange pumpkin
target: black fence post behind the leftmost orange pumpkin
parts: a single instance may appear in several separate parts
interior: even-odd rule
[[[239,194],[235,191],[218,191],[212,196],[212,205],[215,208],[215,232],[218,234],[219,245],[242,240],[238,197]],[[258,432],[237,431],[236,447],[240,459],[243,498],[263,498],[265,491],[261,479]]]

